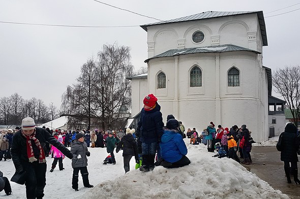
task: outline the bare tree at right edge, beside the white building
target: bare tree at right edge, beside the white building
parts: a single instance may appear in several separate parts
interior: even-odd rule
[[[286,101],[291,110],[295,126],[298,126],[300,111],[300,66],[285,66],[277,69],[272,76],[275,92]]]

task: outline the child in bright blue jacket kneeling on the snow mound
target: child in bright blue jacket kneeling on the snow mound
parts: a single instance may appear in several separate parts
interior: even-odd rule
[[[166,127],[159,143],[164,160],[160,165],[166,168],[178,168],[189,165],[191,162],[186,156],[188,153],[186,143],[182,136],[178,134],[178,121],[175,119],[168,120]]]

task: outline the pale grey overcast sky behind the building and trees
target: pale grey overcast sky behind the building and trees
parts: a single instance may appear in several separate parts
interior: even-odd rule
[[[263,65],[273,71],[285,65],[300,65],[298,0],[99,2],[160,20],[205,11],[263,11],[268,39],[268,46],[263,47]],[[62,94],[68,85],[75,83],[81,65],[88,58],[97,57],[104,44],[117,42],[119,46],[129,46],[135,69],[146,66],[143,62],[147,59],[146,31],[139,25],[157,22],[153,18],[93,0],[0,0],[0,98],[18,93],[24,99],[36,97],[59,108]],[[83,28],[3,22],[135,27]]]

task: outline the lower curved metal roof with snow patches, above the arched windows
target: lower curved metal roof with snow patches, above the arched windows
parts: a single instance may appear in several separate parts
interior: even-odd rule
[[[230,51],[250,51],[256,54],[261,54],[258,51],[251,49],[246,49],[241,46],[235,46],[232,44],[225,44],[220,46],[207,46],[207,47],[196,47],[196,48],[187,48],[187,49],[171,49],[149,59],[146,59],[144,62],[147,63],[149,60],[158,58],[158,57],[172,57],[176,55],[187,55],[193,53],[216,53],[216,52],[230,52]]]

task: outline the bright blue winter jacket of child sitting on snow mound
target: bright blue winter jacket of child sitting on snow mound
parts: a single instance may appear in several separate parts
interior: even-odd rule
[[[187,146],[182,136],[169,129],[164,130],[159,145],[163,159],[169,163],[179,161],[183,155],[188,153]]]

